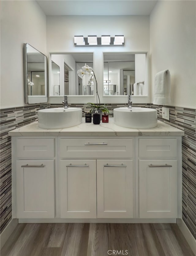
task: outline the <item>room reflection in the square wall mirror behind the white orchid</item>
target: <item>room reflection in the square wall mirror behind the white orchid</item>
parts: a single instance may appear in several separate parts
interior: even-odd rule
[[[78,52],[51,54],[52,66],[55,63],[59,67],[59,87],[54,83],[53,68],[51,70],[50,95],[93,95],[93,82],[89,83],[90,77],[80,75],[78,70],[82,69],[85,64],[93,68],[93,53]]]

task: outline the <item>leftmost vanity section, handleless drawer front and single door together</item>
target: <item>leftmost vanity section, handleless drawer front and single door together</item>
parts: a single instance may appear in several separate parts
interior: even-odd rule
[[[13,137],[12,152],[13,216],[54,218],[55,138]]]

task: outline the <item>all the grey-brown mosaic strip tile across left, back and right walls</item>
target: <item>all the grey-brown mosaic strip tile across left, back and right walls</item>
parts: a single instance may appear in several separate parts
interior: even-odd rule
[[[109,109],[109,116],[113,116],[113,109],[126,107],[127,104],[105,104]],[[70,104],[70,107],[81,107],[83,116],[89,112],[84,104]],[[151,107],[157,110],[158,119],[184,130],[182,138],[183,157],[183,191],[182,208],[183,220],[190,232],[196,238],[196,134],[195,134],[195,110],[181,107],[164,106],[170,109],[170,120],[162,118],[161,105],[134,104],[134,107]],[[0,214],[1,232],[5,229],[12,217],[11,205],[11,138],[8,131],[24,126],[37,120],[37,111],[43,108],[62,107],[62,104],[36,104],[24,107],[2,109],[1,114],[1,173],[0,173]]]

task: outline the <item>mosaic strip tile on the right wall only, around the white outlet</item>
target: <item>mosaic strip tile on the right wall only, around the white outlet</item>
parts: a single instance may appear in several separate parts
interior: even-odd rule
[[[162,105],[153,105],[158,119],[184,131],[182,137],[182,215],[190,232],[196,239],[196,115],[194,109],[171,107],[170,120],[162,118]]]

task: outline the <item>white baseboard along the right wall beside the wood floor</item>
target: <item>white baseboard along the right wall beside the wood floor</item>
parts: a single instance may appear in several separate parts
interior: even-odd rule
[[[189,231],[187,225],[183,221],[183,219],[177,219],[177,224],[181,232],[183,233],[183,236],[187,240],[190,248],[192,249],[193,253],[196,255],[196,240],[194,239],[194,236]]]

